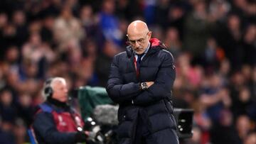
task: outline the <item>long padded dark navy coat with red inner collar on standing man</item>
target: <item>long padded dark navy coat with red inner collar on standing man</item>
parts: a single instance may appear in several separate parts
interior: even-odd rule
[[[147,143],[178,143],[171,104],[171,88],[176,77],[174,57],[159,40],[154,38],[150,42],[149,51],[140,63],[139,76],[131,47],[115,55],[112,61],[107,93],[119,104],[117,133],[122,144],[133,143],[138,113],[143,113],[141,116],[150,131]],[[149,89],[139,89],[140,82],[151,81],[154,84]]]

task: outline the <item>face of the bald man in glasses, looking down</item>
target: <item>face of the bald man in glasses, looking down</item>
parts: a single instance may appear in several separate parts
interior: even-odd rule
[[[127,35],[128,43],[132,46],[132,49],[137,54],[141,55],[149,45],[149,39],[151,38],[151,31],[145,33],[129,33]]]

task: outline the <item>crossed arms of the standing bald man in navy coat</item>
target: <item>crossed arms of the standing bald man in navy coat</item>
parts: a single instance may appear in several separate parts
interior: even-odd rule
[[[146,105],[164,99],[171,95],[171,87],[176,77],[173,65],[174,60],[171,55],[164,57],[155,81],[146,82],[149,87],[142,91],[142,89],[139,89],[139,82],[123,84],[117,60],[113,60],[110,79],[107,83],[107,92],[110,98],[117,103],[133,101],[135,105]]]

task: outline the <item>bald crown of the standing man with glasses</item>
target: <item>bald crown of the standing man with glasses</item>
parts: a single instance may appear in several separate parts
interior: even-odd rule
[[[146,26],[144,21],[133,21],[127,28],[127,36],[146,34],[149,32],[149,28]]]

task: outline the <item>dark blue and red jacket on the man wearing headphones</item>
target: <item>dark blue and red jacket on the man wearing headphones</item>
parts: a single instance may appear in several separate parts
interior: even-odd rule
[[[82,118],[70,106],[46,101],[38,106],[32,131],[37,143],[73,144],[78,142],[78,127],[83,126]]]

